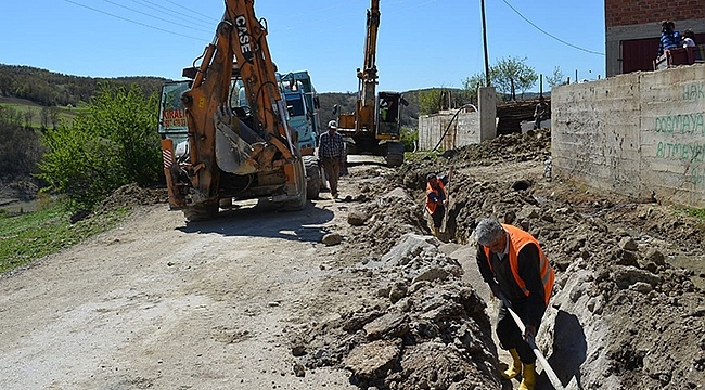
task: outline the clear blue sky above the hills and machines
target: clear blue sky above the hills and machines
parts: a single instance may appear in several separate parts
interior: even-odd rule
[[[579,79],[604,77],[603,1],[485,2],[490,65],[526,57],[538,74],[559,66],[571,79],[576,70]],[[380,90],[462,87],[484,70],[479,0],[380,3]],[[357,90],[368,8],[370,0],[255,2],[279,69],[308,69],[319,92]],[[4,1],[0,63],[76,76],[180,79],[213,40],[223,9],[219,0]]]

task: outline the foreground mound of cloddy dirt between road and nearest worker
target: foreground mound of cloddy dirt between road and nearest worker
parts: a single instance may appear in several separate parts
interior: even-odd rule
[[[289,332],[300,364],[345,367],[364,389],[499,388],[485,303],[439,244],[407,234],[381,259],[342,269],[328,287],[357,299],[333,320]]]

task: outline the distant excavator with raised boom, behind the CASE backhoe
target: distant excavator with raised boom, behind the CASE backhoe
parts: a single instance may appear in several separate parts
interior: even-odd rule
[[[346,142],[348,155],[373,154],[385,156],[390,167],[403,162],[400,106],[408,105],[399,92],[380,92],[377,86],[376,48],[380,28],[380,0],[372,0],[367,15],[364,61],[357,69],[358,95],[354,113],[338,114],[338,132]]]

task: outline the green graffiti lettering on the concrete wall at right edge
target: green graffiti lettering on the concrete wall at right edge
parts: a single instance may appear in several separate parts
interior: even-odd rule
[[[682,100],[688,103],[705,101],[705,83],[683,86]],[[702,106],[702,105],[701,105]],[[688,164],[688,180],[697,188],[705,188],[705,112],[656,117],[656,133],[669,135],[656,146],[656,157]]]

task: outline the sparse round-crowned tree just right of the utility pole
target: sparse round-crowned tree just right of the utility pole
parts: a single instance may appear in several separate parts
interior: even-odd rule
[[[534,68],[526,65],[526,57],[513,56],[499,60],[490,67],[489,75],[497,90],[512,100],[516,100],[517,90],[524,94],[539,78]]]

